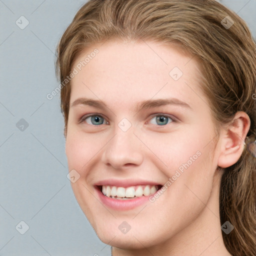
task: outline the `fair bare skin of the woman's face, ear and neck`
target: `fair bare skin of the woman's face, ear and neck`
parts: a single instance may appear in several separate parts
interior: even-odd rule
[[[87,97],[106,107],[70,106],[66,155],[69,170],[80,175],[72,189],[98,237],[113,246],[113,256],[230,255],[220,229],[217,166],[239,159],[249,117],[237,112],[215,144],[209,99],[192,56],[159,42],[112,39],[86,48],[73,67],[94,48],[99,52],[71,80],[70,105]],[[136,109],[141,101],[166,98],[172,104]],[[102,122],[95,124],[98,117]],[[131,124],[126,131],[118,126],[123,118]],[[184,163],[189,166],[158,198],[132,209],[104,205],[94,186],[109,178],[163,185]],[[126,233],[118,228],[123,221],[130,226]]]

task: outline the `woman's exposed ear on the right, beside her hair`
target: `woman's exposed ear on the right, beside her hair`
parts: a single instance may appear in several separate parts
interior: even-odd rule
[[[238,161],[244,148],[244,139],[249,127],[249,116],[243,111],[238,111],[231,123],[221,130],[219,167],[226,168]]]

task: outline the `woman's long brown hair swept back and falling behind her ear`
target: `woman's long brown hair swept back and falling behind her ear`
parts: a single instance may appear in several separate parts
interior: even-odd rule
[[[198,59],[204,77],[201,87],[215,123],[226,124],[237,111],[244,111],[251,121],[248,139],[254,136],[255,43],[245,22],[215,0],[89,0],[84,4],[57,47],[64,134],[71,86],[63,81],[85,47],[114,37],[182,45]],[[222,233],[234,256],[255,255],[255,160],[244,149],[235,164],[221,170],[220,224],[229,221],[234,226],[229,234]]]

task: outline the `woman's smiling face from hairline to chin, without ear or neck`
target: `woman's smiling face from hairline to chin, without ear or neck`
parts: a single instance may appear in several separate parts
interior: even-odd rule
[[[139,248],[188,228],[205,210],[217,166],[195,58],[153,41],[110,40],[73,68],[66,155],[98,237]]]

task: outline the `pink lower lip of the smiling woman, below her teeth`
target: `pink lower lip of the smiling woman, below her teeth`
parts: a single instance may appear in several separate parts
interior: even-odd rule
[[[100,201],[106,206],[115,210],[129,210],[136,208],[142,205],[143,203],[148,202],[149,196],[152,196],[151,194],[147,196],[134,197],[133,199],[122,200],[107,197],[106,195],[103,195],[98,188],[96,188],[96,190]]]

